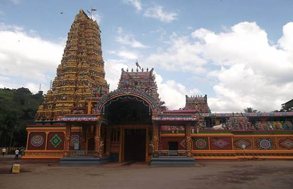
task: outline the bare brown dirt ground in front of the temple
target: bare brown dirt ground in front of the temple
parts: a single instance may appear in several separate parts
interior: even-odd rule
[[[146,163],[60,166],[0,157],[0,188],[293,188],[293,161],[198,161],[196,167]],[[21,173],[10,173],[14,162]]]

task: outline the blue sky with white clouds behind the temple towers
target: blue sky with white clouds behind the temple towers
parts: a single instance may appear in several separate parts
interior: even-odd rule
[[[291,0],[0,0],[0,88],[48,90],[74,16],[90,7],[111,90],[138,59],[169,109],[186,94],[207,94],[212,112],[272,111],[293,98]]]

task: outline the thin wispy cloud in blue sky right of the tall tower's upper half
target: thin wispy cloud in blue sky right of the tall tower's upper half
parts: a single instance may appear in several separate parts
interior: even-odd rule
[[[132,34],[123,32],[123,29],[119,27],[117,29],[117,33],[119,36],[115,38],[115,40],[121,44],[129,45],[133,48],[147,48],[148,46],[142,44],[141,42],[137,41]]]

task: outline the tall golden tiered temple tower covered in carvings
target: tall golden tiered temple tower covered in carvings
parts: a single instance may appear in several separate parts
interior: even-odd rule
[[[86,110],[88,97],[108,90],[99,25],[80,10],[68,32],[57,76],[37,110],[35,122],[51,124],[73,109]]]

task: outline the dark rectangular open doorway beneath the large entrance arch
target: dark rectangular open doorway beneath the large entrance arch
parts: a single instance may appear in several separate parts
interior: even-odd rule
[[[145,161],[145,129],[126,129],[124,133],[124,161]]]

